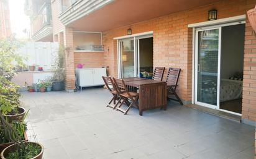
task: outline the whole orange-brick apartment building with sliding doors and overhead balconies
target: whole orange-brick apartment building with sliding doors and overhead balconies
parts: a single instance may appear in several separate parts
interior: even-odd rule
[[[32,25],[45,19],[39,15],[45,15],[42,8],[49,3],[31,3]],[[256,37],[247,11],[255,4],[256,0],[52,0],[52,20],[47,17],[48,25],[33,26],[32,35],[36,41],[58,41],[69,48],[68,91],[75,89],[77,64],[107,67],[114,77],[139,77],[157,66],[178,67],[178,94],[185,104],[226,111],[254,125]]]

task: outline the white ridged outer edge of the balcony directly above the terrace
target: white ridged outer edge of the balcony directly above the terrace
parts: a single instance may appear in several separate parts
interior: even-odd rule
[[[62,0],[63,12],[60,14],[60,21],[64,25],[71,24],[75,20],[91,14],[112,1],[114,0]]]

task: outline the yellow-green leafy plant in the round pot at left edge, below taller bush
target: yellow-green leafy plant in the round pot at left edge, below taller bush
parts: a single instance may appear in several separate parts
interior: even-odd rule
[[[21,94],[17,92],[18,86],[0,76],[0,111],[2,114],[16,114],[17,107],[21,105]]]

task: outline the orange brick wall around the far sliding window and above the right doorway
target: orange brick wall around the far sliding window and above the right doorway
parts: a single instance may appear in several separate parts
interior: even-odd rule
[[[126,35],[127,28],[132,33],[153,31],[153,66],[180,67],[180,87],[178,94],[185,101],[191,101],[192,94],[192,37],[188,24],[208,21],[208,11],[217,9],[218,19],[246,14],[254,7],[256,1],[221,1],[208,6],[188,11],[165,15],[127,27],[116,28],[103,33],[105,48],[105,65],[109,74],[117,76],[117,50],[114,37]]]

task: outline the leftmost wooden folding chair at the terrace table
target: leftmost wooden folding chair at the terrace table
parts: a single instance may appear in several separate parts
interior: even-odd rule
[[[113,80],[111,79],[111,77],[105,77],[105,76],[102,76],[103,78],[103,81],[107,87],[107,89],[109,90],[109,92],[113,95],[112,99],[109,101],[109,103],[107,104],[107,107],[110,107],[110,108],[115,108],[116,105],[118,104],[118,102],[116,103],[116,100],[119,100],[120,97],[115,89],[115,85],[114,85],[114,82]],[[110,87],[112,85],[112,88]]]

